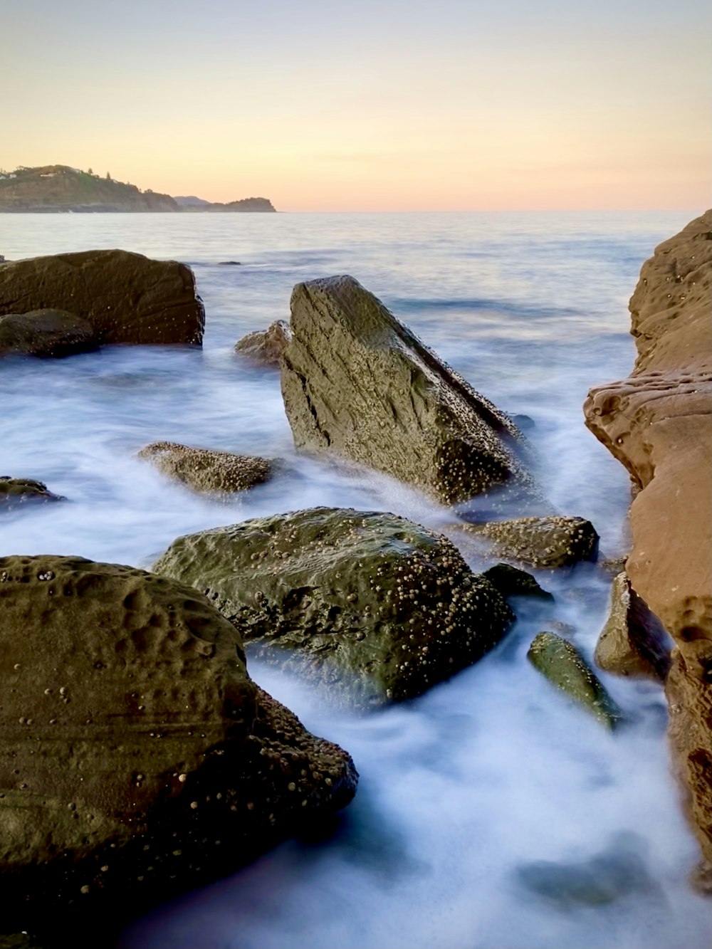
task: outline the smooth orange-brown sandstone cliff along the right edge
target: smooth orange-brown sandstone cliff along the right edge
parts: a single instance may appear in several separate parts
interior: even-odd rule
[[[641,488],[626,571],[676,642],[669,735],[712,884],[712,212],[656,248],[630,311],[633,372],[584,411]]]

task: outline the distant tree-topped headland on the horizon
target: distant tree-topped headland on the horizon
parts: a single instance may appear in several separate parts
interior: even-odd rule
[[[68,165],[21,166],[12,172],[0,169],[0,213],[10,214],[107,214],[107,213],[272,213],[267,197],[245,197],[228,203],[206,201],[191,195],[172,197],[141,191],[136,185],[104,177],[91,169]]]

